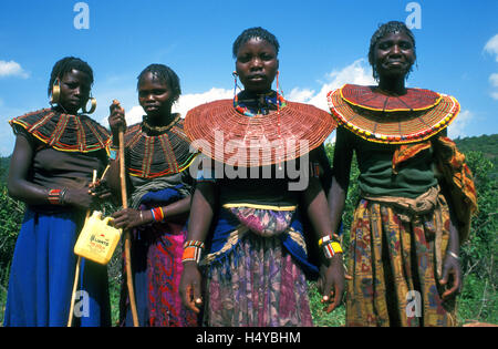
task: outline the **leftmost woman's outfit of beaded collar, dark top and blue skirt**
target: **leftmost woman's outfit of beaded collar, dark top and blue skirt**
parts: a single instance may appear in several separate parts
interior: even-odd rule
[[[10,123],[33,148],[27,179],[37,185],[82,187],[91,182],[93,170],[101,174],[106,165],[108,134],[87,116],[43,110]],[[75,140],[75,134],[84,136]],[[77,261],[73,248],[84,215],[68,206],[27,207],[10,269],[3,326],[68,325]],[[73,326],[110,326],[110,309],[106,267],[82,258]]]

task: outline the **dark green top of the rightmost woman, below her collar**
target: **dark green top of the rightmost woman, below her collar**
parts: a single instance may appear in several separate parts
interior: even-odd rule
[[[437,185],[433,171],[433,148],[424,150],[398,165],[393,173],[393,155],[400,145],[373,143],[363,140],[346,129],[338,127],[334,176],[339,184],[349,185],[353,151],[360,170],[359,187],[362,195],[400,196],[415,198]],[[346,170],[347,168],[347,170]]]

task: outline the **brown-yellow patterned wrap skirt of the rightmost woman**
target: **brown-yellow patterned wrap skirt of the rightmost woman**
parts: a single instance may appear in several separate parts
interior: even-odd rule
[[[455,326],[455,302],[444,301],[440,260],[449,211],[439,195],[429,214],[361,199],[351,228],[346,326]]]

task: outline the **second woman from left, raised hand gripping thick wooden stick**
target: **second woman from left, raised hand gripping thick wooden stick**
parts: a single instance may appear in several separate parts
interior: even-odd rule
[[[124,134],[129,208],[113,214],[114,225],[133,229],[132,274],[141,326],[197,326],[197,315],[181,305],[184,228],[195,181],[189,166],[196,157],[184,132],[184,120],[172,106],[181,90],[177,74],[164,64],[151,64],[138,75],[138,102],[146,115]],[[111,105],[111,158],[116,158],[118,132],[126,127],[124,110]],[[118,161],[111,161],[110,178],[118,187]],[[132,325],[126,289],[122,324]]]

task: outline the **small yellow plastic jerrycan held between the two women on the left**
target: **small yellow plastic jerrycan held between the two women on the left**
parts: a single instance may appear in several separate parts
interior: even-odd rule
[[[111,217],[103,218],[98,211],[86,218],[76,245],[74,245],[74,254],[106,265],[111,260],[122,234],[122,229],[108,225],[110,220],[112,220]]]

